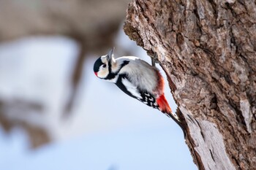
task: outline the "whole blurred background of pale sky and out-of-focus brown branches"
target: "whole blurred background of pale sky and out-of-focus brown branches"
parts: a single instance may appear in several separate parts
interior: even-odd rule
[[[0,0],[0,169],[196,169],[173,120],[94,76],[113,46],[150,62],[128,3]]]

